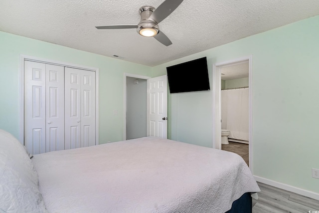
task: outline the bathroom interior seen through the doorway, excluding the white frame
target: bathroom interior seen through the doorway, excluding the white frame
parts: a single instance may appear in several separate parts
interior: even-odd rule
[[[221,68],[222,150],[240,155],[249,166],[249,63]]]

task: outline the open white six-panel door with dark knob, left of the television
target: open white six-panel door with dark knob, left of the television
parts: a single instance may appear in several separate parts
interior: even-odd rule
[[[167,76],[148,79],[147,135],[167,138]]]

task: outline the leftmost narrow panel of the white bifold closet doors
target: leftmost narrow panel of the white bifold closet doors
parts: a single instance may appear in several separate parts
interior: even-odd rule
[[[24,145],[45,152],[45,64],[24,61]]]

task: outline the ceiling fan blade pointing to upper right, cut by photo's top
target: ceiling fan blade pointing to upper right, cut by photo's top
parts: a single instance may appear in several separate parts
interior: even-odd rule
[[[160,21],[172,13],[182,1],[183,0],[165,0],[156,10],[154,10],[149,19],[160,23]]]

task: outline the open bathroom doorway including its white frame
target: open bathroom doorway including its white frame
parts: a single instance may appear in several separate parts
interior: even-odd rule
[[[213,145],[240,155],[250,168],[251,60],[249,56],[213,65]]]

